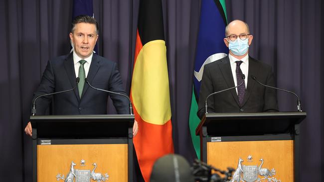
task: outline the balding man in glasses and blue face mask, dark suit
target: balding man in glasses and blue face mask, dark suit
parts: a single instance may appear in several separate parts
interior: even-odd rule
[[[275,86],[271,66],[249,56],[253,35],[248,25],[240,20],[230,22],[225,28],[224,43],[229,55],[204,66],[201,80],[197,115],[205,114],[205,99],[215,91],[241,85],[208,98],[208,113],[211,112],[276,112],[276,90],[256,83]],[[244,76],[245,79],[243,80]]]

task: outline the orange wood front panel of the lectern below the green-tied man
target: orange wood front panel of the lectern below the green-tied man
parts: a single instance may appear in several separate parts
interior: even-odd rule
[[[38,182],[64,182],[73,177],[75,182],[93,182],[90,178],[127,182],[128,145],[37,145]]]

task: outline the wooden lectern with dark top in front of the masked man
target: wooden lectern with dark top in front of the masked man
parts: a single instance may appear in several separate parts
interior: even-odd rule
[[[242,169],[251,182],[300,182],[305,117],[306,112],[208,113],[196,128],[200,159],[223,170]]]

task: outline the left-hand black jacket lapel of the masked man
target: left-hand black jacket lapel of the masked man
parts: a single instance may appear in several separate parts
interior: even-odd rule
[[[234,87],[234,79],[233,79],[232,69],[231,69],[231,65],[230,65],[228,56],[226,56],[222,60],[222,64],[219,64],[219,67],[220,67],[220,71],[222,72],[222,75],[224,77],[224,80],[225,80],[225,82],[227,84],[227,87],[228,88]],[[238,105],[240,105],[236,90],[231,89],[230,92],[232,93],[236,103]]]

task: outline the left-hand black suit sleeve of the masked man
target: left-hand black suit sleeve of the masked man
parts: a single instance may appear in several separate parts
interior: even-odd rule
[[[205,99],[206,97],[213,92],[213,84],[210,76],[209,67],[207,65],[204,66],[204,72],[202,75],[200,91],[199,91],[199,100],[198,100],[198,111],[197,115],[201,119],[205,114]],[[208,112],[215,112],[214,108],[214,99],[213,97],[208,98]]]

